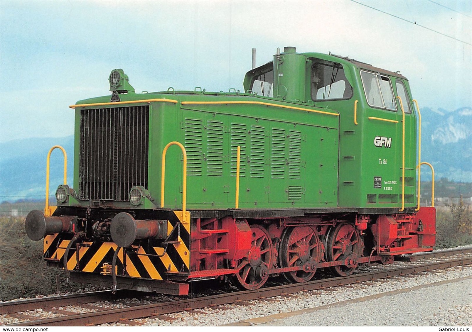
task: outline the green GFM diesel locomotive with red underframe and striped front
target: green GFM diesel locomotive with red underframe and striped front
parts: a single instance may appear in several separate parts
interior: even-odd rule
[[[432,250],[421,117],[398,72],[286,47],[244,92],[135,93],[121,69],[109,81],[111,96],[70,106],[74,189],[26,218],[67,277],[186,294],[228,276],[253,290]]]

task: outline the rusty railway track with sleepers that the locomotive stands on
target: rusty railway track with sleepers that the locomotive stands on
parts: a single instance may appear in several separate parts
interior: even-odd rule
[[[424,255],[427,255],[427,258],[436,258],[436,260],[438,260],[438,257],[450,257],[453,255],[459,255],[459,257],[451,257],[435,262],[417,262],[418,259],[424,259]],[[416,256],[418,256],[418,258]],[[113,322],[120,322],[128,325],[140,325],[141,323],[131,320],[144,317],[169,320],[169,317],[163,315],[184,310],[198,312],[198,309],[203,307],[224,308],[225,305],[230,303],[244,305],[250,300],[267,299],[277,296],[290,297],[291,295],[289,294],[300,291],[319,290],[346,284],[427,272],[452,266],[465,266],[472,264],[472,249],[447,250],[436,253],[412,255],[410,257],[413,258],[410,261],[412,263],[409,264],[407,262],[402,262],[403,264],[406,264],[405,266],[393,268],[380,266],[382,268],[378,271],[362,272],[348,277],[335,277],[314,280],[302,284],[297,283],[267,287],[255,291],[237,291],[193,299],[177,299],[163,302],[145,301],[147,302],[146,304],[131,305],[129,307],[120,308],[104,308],[91,304],[95,301],[110,300],[110,291],[12,301],[0,304],[0,317],[2,314],[7,314],[10,317],[16,317],[17,319],[22,320],[21,322],[10,324],[14,326],[88,326]],[[136,294],[131,295],[126,291],[121,291],[120,293],[115,294],[116,298],[120,299],[135,295]],[[64,309],[71,305],[83,308],[83,311],[86,312],[77,313]],[[28,314],[30,311],[38,308],[42,308],[42,312],[51,313],[57,316],[51,318],[40,318]]]

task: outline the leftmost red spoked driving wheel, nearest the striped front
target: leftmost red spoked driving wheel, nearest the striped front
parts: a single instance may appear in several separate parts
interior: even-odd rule
[[[234,280],[241,289],[257,290],[269,278],[272,267],[272,241],[269,232],[260,225],[252,225],[252,244],[248,256],[239,264]]]

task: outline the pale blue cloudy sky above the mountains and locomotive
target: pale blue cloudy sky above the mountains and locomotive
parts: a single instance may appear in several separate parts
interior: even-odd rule
[[[416,23],[415,23],[416,22]],[[0,1],[0,142],[74,133],[77,100],[243,91],[277,48],[349,56],[409,81],[420,107],[472,107],[472,0]]]

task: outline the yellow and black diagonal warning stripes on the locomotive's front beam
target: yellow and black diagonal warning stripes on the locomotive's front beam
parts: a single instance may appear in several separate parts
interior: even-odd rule
[[[126,256],[123,256],[123,248],[118,252],[117,274],[135,278],[147,278],[155,280],[171,279],[172,274],[188,275],[190,267],[190,213],[187,212],[185,221],[182,220],[182,211],[163,211],[168,221],[168,235],[174,228],[178,229],[173,233],[175,239],[169,239],[169,243],[164,253],[164,248],[132,246],[126,248]],[[163,219],[163,218],[162,218]],[[44,258],[55,261],[59,266],[63,266],[63,257],[67,245],[73,238],[73,234],[53,234],[44,238]],[[111,265],[113,254],[118,248],[114,242],[102,241],[80,241],[79,246],[79,268],[77,265],[76,245],[73,244],[67,255],[67,269],[71,271],[83,271],[91,273],[101,273],[102,266]],[[164,255],[162,255],[164,253]],[[149,255],[149,256],[146,256]],[[162,257],[158,257],[162,256]]]

